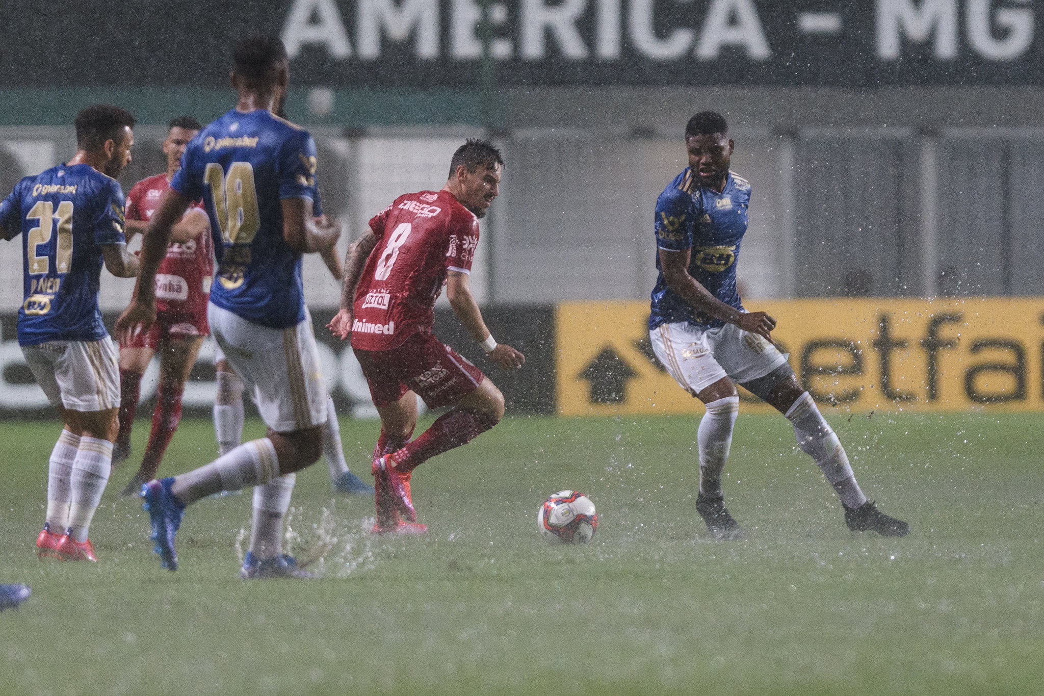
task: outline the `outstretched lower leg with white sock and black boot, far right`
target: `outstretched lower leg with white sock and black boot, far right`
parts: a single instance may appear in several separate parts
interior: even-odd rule
[[[853,531],[876,531],[885,536],[905,536],[909,525],[884,514],[867,500],[856,483],[848,454],[812,397],[803,392],[785,413],[793,424],[801,449],[815,460],[845,507],[845,523]]]

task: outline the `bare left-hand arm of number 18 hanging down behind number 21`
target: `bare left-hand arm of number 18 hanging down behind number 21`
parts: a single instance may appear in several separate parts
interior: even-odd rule
[[[147,329],[156,320],[156,272],[167,255],[171,229],[182,219],[191,202],[176,189],[170,188],[164,192],[160,207],[152,214],[142,237],[138,283],[135,285],[130,305],[116,320],[117,335],[128,336],[132,332]]]

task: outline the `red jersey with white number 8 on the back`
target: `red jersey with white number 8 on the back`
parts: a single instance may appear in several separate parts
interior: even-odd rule
[[[478,218],[449,191],[407,193],[370,220],[377,246],[355,291],[352,346],[397,347],[431,331],[446,271],[471,272]]]

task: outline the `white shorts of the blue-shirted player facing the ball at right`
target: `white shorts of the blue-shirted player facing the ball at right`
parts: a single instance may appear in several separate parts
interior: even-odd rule
[[[667,373],[693,397],[723,377],[750,382],[786,364],[786,356],[775,345],[732,323],[719,329],[663,323],[649,338]]]

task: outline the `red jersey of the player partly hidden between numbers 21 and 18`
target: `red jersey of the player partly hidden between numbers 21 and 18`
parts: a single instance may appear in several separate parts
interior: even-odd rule
[[[148,221],[169,186],[166,174],[149,176],[135,184],[127,194],[127,219]],[[193,203],[193,208],[204,210],[198,203]],[[209,230],[184,244],[171,243],[156,273],[156,308],[160,311],[203,312],[206,316],[213,277],[213,240]]]

